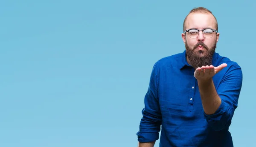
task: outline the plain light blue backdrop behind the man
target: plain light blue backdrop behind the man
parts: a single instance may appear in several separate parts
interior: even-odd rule
[[[183,20],[197,6],[218,19],[216,51],[242,68],[230,132],[235,147],[252,147],[253,0],[1,1],[0,146],[136,147],[151,69],[184,51]]]

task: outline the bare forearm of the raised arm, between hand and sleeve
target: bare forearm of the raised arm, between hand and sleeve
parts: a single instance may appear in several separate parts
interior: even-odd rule
[[[214,114],[221,105],[221,99],[216,92],[212,78],[209,80],[198,80],[201,101],[204,113]]]

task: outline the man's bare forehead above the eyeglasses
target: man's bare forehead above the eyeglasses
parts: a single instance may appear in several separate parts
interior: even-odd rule
[[[212,14],[191,13],[186,20],[186,29],[189,28],[213,28],[216,29],[216,20]]]

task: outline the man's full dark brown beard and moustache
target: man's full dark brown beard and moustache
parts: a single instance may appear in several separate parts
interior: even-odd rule
[[[202,45],[204,50],[195,50],[199,45]],[[185,42],[186,57],[188,57],[190,65],[195,69],[206,65],[212,65],[212,57],[215,53],[216,45],[217,42],[215,40],[215,43],[211,48],[208,48],[204,42],[198,42],[193,48],[189,48],[187,42]]]

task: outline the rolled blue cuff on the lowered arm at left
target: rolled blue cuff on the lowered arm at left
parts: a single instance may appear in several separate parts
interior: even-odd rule
[[[140,133],[137,132],[139,142],[152,142],[159,139],[159,133]]]

